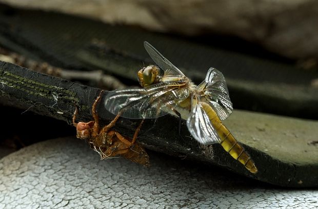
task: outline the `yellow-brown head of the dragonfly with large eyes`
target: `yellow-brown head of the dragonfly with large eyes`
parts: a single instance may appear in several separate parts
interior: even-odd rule
[[[156,66],[144,67],[138,71],[138,80],[142,87],[148,87],[160,79],[160,69]]]

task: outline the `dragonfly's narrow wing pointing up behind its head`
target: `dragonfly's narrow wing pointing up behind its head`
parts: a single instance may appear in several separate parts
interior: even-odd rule
[[[182,75],[184,74],[177,69],[172,63],[166,59],[160,52],[158,52],[153,46],[151,46],[147,41],[144,42],[144,47],[153,61],[165,71],[165,76],[168,75]]]

